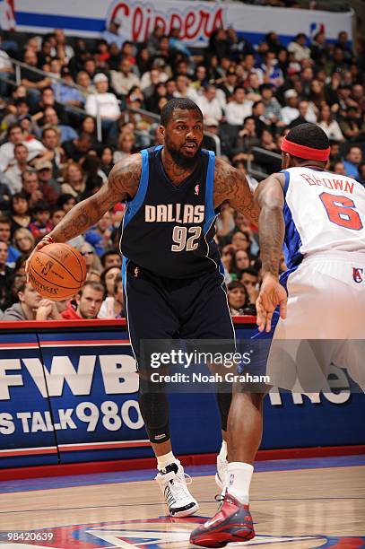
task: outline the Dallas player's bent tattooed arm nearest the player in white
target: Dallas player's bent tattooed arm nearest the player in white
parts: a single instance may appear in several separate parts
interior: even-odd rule
[[[232,208],[257,224],[259,207],[251,193],[248,180],[226,161],[216,160],[214,176],[214,207],[228,200]]]

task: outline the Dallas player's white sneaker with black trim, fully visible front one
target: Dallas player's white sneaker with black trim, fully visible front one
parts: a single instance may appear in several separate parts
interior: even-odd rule
[[[197,501],[187,490],[186,477],[191,484],[191,477],[184,473],[180,463],[171,463],[155,476],[173,517],[189,517],[199,509]]]

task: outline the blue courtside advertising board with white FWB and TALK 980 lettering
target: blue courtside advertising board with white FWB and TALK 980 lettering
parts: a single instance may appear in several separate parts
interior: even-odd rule
[[[152,456],[125,324],[75,326],[0,335],[0,467]],[[252,330],[236,326],[240,339]],[[263,449],[364,442],[364,396],[351,393],[343,371],[334,373],[340,383],[331,393],[266,396]],[[215,396],[172,394],[169,400],[175,452],[217,451]]]

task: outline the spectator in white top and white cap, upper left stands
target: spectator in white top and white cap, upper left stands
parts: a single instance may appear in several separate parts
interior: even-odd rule
[[[109,81],[106,74],[95,74],[94,84],[96,92],[87,98],[85,110],[91,117],[99,115],[103,125],[109,127],[120,116],[117,97],[114,93],[108,92]]]

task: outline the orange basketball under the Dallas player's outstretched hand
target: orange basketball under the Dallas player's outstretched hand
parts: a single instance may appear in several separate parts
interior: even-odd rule
[[[53,301],[66,300],[83,287],[85,261],[68,244],[48,244],[30,258],[29,279],[42,297]]]

